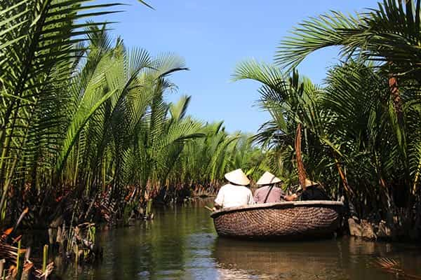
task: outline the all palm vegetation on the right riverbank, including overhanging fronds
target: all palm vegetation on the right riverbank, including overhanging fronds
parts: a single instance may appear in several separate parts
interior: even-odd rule
[[[234,74],[262,84],[260,106],[272,119],[254,138],[272,152],[272,171],[298,182],[300,151],[307,176],[384,237],[420,237],[420,2],[309,18],[274,64],[243,62]],[[341,62],[314,85],[295,67],[328,46]]]

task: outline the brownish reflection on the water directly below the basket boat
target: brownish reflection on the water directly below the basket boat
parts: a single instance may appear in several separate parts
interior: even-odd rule
[[[224,273],[234,269],[259,279],[347,279],[335,247],[335,241],[274,244],[218,239],[215,260]]]

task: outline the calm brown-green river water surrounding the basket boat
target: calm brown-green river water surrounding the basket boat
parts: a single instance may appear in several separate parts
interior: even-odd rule
[[[69,267],[62,278],[403,279],[375,265],[379,257],[421,276],[421,247],[416,244],[347,237],[288,243],[223,239],[216,235],[205,203],[155,209],[154,221],[102,232],[102,263]]]

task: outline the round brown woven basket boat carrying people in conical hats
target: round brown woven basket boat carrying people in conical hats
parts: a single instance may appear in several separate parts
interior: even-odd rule
[[[316,239],[338,228],[342,202],[299,201],[230,207],[210,214],[222,237],[243,239]]]

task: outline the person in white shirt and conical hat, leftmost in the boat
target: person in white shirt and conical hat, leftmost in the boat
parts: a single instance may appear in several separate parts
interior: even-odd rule
[[[213,210],[227,207],[239,207],[248,204],[254,204],[253,194],[247,188],[248,180],[243,170],[236,169],[225,174],[228,183],[222,186],[215,198],[215,207]]]

